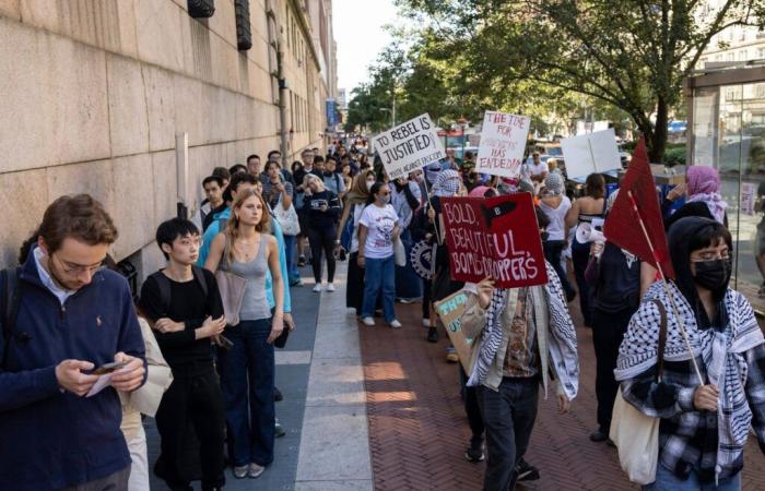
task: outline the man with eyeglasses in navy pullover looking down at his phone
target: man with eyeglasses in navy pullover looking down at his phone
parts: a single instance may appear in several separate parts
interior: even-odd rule
[[[37,236],[0,282],[0,487],[127,489],[117,391],[143,384],[145,361],[130,287],[101,268],[117,229],[79,194],[48,206]]]

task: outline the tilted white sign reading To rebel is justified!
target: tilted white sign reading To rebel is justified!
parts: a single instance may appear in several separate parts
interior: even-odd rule
[[[390,180],[446,158],[436,127],[425,113],[372,139]]]

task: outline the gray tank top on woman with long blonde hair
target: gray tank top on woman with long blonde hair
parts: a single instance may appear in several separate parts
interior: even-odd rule
[[[236,276],[247,280],[245,288],[245,298],[242,301],[239,310],[239,319],[242,321],[259,321],[261,319],[271,318],[271,309],[268,307],[266,298],[266,274],[268,273],[268,261],[266,260],[266,241],[267,235],[260,236],[260,244],[255,259],[248,263],[232,261],[226,270]],[[226,251],[224,258],[228,258],[228,242],[226,242]],[[226,261],[224,261],[225,263]]]

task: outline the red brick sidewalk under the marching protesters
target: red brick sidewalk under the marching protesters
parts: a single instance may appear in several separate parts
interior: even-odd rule
[[[402,330],[390,330],[380,320],[376,327],[358,326],[375,489],[479,490],[483,464],[470,464],[463,456],[470,429],[458,369],[445,361],[443,331],[437,345],[424,340],[420,308],[397,304]],[[579,328],[577,336],[579,395],[566,416],[556,414],[554,394],[548,400],[540,397],[527,460],[540,468],[541,479],[518,489],[637,489],[619,467],[616,451],[588,439],[596,428],[595,354],[590,331]],[[765,459],[754,438],[745,455],[743,489],[765,489],[765,475],[757,472]]]

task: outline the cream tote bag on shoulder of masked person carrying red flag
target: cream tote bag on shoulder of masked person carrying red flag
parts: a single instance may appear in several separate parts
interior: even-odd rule
[[[661,314],[659,331],[659,354],[657,380],[661,380],[664,364],[664,343],[667,340],[667,311],[658,301],[654,302]],[[635,406],[624,400],[620,387],[613,405],[609,436],[619,450],[619,462],[631,481],[650,484],[656,481],[656,466],[659,462],[659,423],[661,418],[644,415]]]

